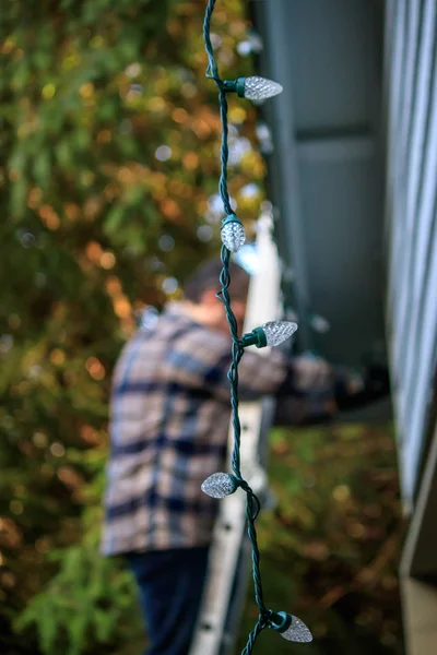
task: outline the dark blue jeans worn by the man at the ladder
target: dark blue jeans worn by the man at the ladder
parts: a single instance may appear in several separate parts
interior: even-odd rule
[[[188,655],[206,575],[208,548],[127,555],[151,646],[146,655]]]

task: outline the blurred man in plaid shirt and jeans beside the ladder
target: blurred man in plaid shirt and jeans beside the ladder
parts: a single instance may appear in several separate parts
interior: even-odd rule
[[[231,337],[215,297],[220,271],[220,261],[201,266],[185,301],[126,345],[114,376],[103,552],[123,555],[133,572],[147,655],[187,655],[205,577],[218,503],[200,487],[225,465],[231,412]],[[249,277],[236,264],[231,275],[241,326]],[[279,352],[262,358],[246,352],[241,359],[241,400],[286,394],[292,420],[294,414],[302,422],[311,389],[322,390],[311,396],[311,416],[327,416],[333,398],[326,362],[290,362]]]

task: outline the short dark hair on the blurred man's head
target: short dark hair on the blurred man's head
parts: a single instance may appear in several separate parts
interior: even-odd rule
[[[190,302],[200,302],[205,291],[217,293],[221,289],[220,274],[223,264],[220,259],[209,260],[201,264],[188,278],[184,286],[184,294]],[[231,262],[229,294],[235,300],[245,301],[249,289],[249,274],[238,264]]]

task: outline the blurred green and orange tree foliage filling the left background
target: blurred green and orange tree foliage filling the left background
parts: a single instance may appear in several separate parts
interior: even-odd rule
[[[203,0],[11,0],[0,12],[5,655],[109,652],[128,630],[132,592],[95,552],[109,380],[135,310],[177,296],[173,278],[217,252],[203,12]],[[243,3],[223,0],[214,23],[223,70],[244,74]],[[232,104],[232,193],[249,227],[261,199],[240,190],[264,175],[247,140],[253,119],[250,103]]]

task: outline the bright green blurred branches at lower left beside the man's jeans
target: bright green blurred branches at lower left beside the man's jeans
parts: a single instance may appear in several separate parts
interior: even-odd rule
[[[36,631],[38,645],[48,655],[139,653],[144,629],[131,575],[121,560],[98,553],[106,452],[76,452],[75,456],[85,460],[93,474],[83,489],[83,538],[48,553],[56,573],[31,599],[15,627],[20,632]]]

